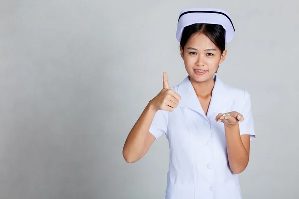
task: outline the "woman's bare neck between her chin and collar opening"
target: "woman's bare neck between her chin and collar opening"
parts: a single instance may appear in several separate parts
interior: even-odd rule
[[[190,76],[189,79],[195,90],[197,97],[206,98],[212,95],[212,90],[215,85],[214,77],[212,77],[210,80],[205,82],[196,82],[195,80],[190,78]]]

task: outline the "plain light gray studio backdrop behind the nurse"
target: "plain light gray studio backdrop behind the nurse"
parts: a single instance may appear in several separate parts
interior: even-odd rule
[[[146,104],[186,76],[179,12],[230,13],[218,75],[251,94],[257,139],[244,199],[298,199],[297,1],[0,0],[0,199],[162,199],[165,136],[122,157]]]

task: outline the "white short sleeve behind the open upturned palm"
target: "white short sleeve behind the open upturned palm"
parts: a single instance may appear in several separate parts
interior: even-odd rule
[[[251,100],[249,93],[244,90],[244,105],[240,111],[244,120],[239,122],[240,135],[250,135],[250,140],[256,138],[254,130],[254,121],[251,110]]]

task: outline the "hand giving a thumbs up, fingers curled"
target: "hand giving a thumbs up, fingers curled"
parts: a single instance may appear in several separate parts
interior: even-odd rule
[[[179,100],[181,100],[181,96],[170,89],[167,73],[164,72],[163,75],[163,89],[156,97],[150,100],[150,104],[156,111],[167,110],[172,112],[174,108],[177,108]]]

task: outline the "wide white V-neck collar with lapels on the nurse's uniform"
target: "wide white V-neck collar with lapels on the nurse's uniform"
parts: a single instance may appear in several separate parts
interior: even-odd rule
[[[189,108],[198,112],[202,116],[209,118],[213,114],[217,113],[221,107],[232,104],[232,97],[228,87],[216,75],[214,75],[214,80],[215,85],[212,90],[212,97],[207,115],[205,115],[200,105],[193,85],[190,82],[189,75],[178,85],[177,93],[182,97],[178,107]]]

